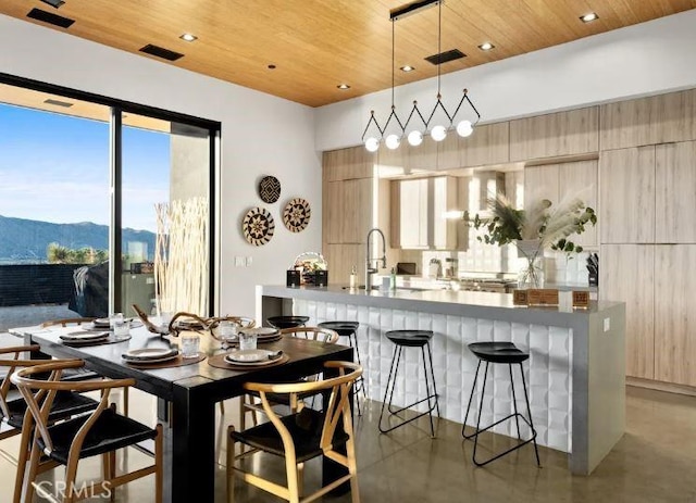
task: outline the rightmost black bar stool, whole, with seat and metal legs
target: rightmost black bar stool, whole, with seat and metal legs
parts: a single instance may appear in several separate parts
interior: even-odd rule
[[[526,392],[526,382],[524,380],[524,369],[522,368],[522,362],[529,360],[530,357],[530,353],[526,353],[524,351],[521,351],[520,349],[518,349],[512,342],[472,342],[471,344],[469,344],[469,350],[478,359],[478,365],[476,366],[476,374],[474,376],[474,383],[471,388],[471,395],[469,397],[469,404],[467,405],[467,414],[464,415],[464,424],[461,427],[461,435],[463,438],[471,440],[472,438],[474,439],[474,452],[472,455],[472,460],[474,462],[474,464],[476,466],[484,466],[487,465],[488,463],[505,456],[506,454],[511,453],[512,451],[515,451],[518,449],[520,449],[521,447],[533,442],[534,443],[534,454],[536,455],[536,464],[537,466],[542,466],[542,464],[539,463],[539,451],[536,447],[536,430],[534,429],[534,425],[532,423],[532,410],[530,408],[530,398],[527,395]],[[484,375],[483,375],[483,388],[481,390],[481,400],[480,400],[480,405],[478,405],[478,418],[476,419],[476,430],[474,431],[474,433],[472,435],[465,435],[464,429],[467,428],[467,418],[469,417],[469,408],[471,407],[471,402],[474,398],[474,392],[476,391],[476,380],[478,379],[478,369],[481,368],[481,363],[482,362],[486,362],[486,368],[484,370]],[[495,422],[494,424],[492,424],[490,426],[487,426],[485,428],[481,428],[481,410],[483,408],[483,399],[484,399],[484,394],[486,392],[486,377],[488,375],[488,365],[492,363],[502,363],[502,364],[507,364],[508,368],[510,369],[510,386],[512,387],[512,405],[514,407],[514,413],[510,414],[506,417],[504,417],[502,419],[499,419],[497,422]],[[512,380],[512,365],[517,364],[520,366],[520,375],[522,376],[522,388],[524,389],[524,401],[526,403],[526,413],[530,416],[530,419],[527,420],[526,417],[524,417],[522,414],[520,414],[518,412],[518,402],[517,402],[517,395],[514,393],[514,381]],[[496,454],[495,456],[484,461],[484,462],[478,462],[476,461],[476,448],[478,447],[478,435],[481,435],[482,432],[493,428],[494,426],[499,425],[500,423],[511,419],[514,417],[514,423],[517,424],[517,428],[518,428],[518,440],[520,443],[518,443],[517,445],[508,449],[505,452],[501,452],[500,454]],[[532,429],[532,437],[529,438],[527,440],[522,440],[522,433],[520,432],[520,419],[522,418],[522,420],[524,423],[526,423],[526,425]]]

